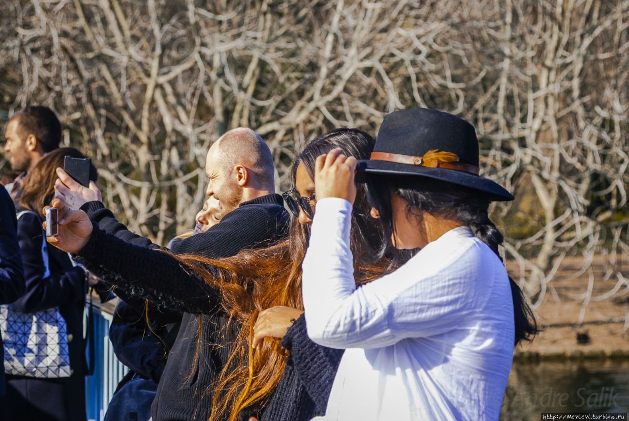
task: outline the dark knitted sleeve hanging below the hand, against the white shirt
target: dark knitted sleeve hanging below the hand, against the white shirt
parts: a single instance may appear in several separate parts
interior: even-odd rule
[[[320,346],[311,341],[303,314],[289,327],[282,339],[282,346],[291,352],[289,361],[315,402],[316,415],[324,415],[344,350]]]

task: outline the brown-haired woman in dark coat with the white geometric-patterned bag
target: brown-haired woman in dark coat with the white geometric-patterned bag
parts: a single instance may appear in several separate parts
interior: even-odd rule
[[[18,241],[24,264],[26,290],[12,308],[33,313],[58,307],[67,325],[71,375],[61,378],[6,376],[7,392],[0,401],[3,420],[85,420],[83,310],[87,292],[86,272],[74,266],[67,253],[46,247],[42,222],[44,205],[55,189],[55,168],[64,157],[85,158],[74,148],[48,153],[23,183],[19,205]],[[96,180],[92,166],[90,179]]]

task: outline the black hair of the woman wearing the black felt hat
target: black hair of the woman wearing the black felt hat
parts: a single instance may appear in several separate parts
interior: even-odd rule
[[[489,219],[489,200],[470,189],[459,187],[441,180],[427,180],[413,177],[382,176],[367,179],[369,201],[380,214],[384,228],[384,238],[388,241],[381,248],[381,255],[391,253],[391,234],[395,229],[391,210],[391,194],[406,201],[406,213],[420,216],[422,212],[441,213],[453,217],[469,226],[477,238],[493,250],[503,261],[499,246],[503,244],[503,234]],[[522,290],[509,276],[513,318],[515,324],[515,344],[532,341],[539,332],[535,315],[526,303]]]

